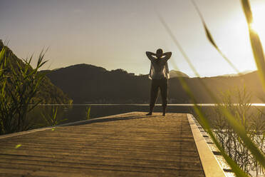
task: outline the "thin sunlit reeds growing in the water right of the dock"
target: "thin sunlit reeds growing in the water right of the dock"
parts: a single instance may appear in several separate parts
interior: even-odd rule
[[[222,104],[237,123],[244,126],[251,141],[261,150],[264,149],[265,119],[263,113],[258,108],[251,106],[251,95],[246,88],[231,89],[222,93]],[[227,121],[226,116],[220,111],[219,106],[214,107],[212,118],[212,131],[217,136],[225,152],[240,166],[240,168],[251,176],[261,176],[264,174],[262,166],[250,153],[248,146],[241,140],[236,131]]]

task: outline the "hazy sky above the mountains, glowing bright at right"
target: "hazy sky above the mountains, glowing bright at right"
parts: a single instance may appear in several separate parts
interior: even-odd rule
[[[246,20],[239,0],[194,0],[222,52],[241,72],[254,71]],[[265,1],[251,0],[255,28],[265,42]],[[207,41],[189,0],[0,0],[0,39],[26,59],[47,49],[57,69],[92,64],[108,70],[148,74],[145,51],[172,51],[169,68],[195,76],[156,11],[170,27],[199,75],[234,74]],[[35,62],[35,63],[34,63]]]

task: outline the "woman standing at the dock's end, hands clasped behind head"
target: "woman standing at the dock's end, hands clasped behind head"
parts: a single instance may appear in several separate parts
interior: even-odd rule
[[[150,94],[150,112],[147,113],[147,116],[152,115],[152,110],[157,100],[158,89],[160,89],[162,97],[163,116],[165,116],[165,111],[167,108],[167,79],[170,78],[167,60],[170,59],[172,52],[167,52],[163,54],[162,49],[157,49],[156,54],[147,51],[146,55],[151,61],[149,77],[150,79],[152,79]]]

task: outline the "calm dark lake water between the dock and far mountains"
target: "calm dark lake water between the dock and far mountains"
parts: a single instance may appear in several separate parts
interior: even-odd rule
[[[202,108],[209,110],[215,104],[201,103],[198,104]],[[170,113],[193,113],[194,104],[168,104],[167,112]],[[265,108],[265,103],[253,103],[253,107]],[[132,111],[149,111],[148,104],[43,104],[37,106],[28,116],[36,123],[43,123],[43,116],[51,116],[53,108],[58,109],[57,118],[63,120],[63,123],[82,121],[86,119],[86,112],[90,107],[90,118],[98,118],[103,116],[115,115],[118,113],[128,113]],[[154,112],[161,112],[162,106],[157,105]],[[209,112],[209,111],[207,111]],[[43,116],[42,116],[43,114]]]

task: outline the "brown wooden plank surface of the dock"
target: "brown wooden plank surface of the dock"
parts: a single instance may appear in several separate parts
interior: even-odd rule
[[[204,176],[204,171],[186,114],[133,112],[0,138],[0,176]]]

